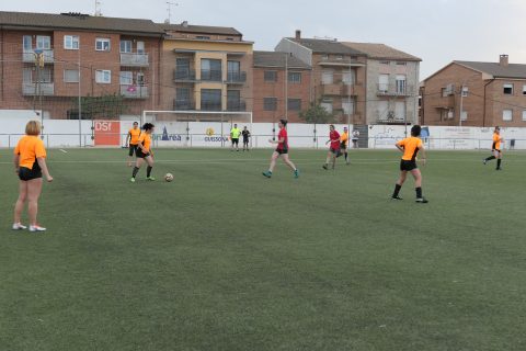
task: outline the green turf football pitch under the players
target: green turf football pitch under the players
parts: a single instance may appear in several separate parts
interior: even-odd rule
[[[396,151],[124,152],[50,150],[33,235],[0,150],[0,350],[526,349],[525,154],[432,151],[422,205]]]

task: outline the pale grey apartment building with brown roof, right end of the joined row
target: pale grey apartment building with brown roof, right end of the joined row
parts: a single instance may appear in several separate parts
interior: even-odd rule
[[[343,44],[367,55],[366,124],[418,123],[421,59],[385,44]]]

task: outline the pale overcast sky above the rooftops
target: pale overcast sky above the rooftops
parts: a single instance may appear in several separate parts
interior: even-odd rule
[[[233,26],[256,49],[305,37],[391,45],[423,59],[421,80],[454,59],[526,64],[526,0],[171,0],[172,23]],[[0,0],[2,11],[94,12],[95,0]],[[101,0],[107,16],[168,18],[167,0]]]

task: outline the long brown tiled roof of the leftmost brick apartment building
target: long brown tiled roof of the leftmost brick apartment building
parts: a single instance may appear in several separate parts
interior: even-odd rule
[[[164,32],[150,20],[92,16],[79,13],[52,14],[0,11],[0,25],[31,29],[68,29],[117,33],[141,33],[156,36],[164,34]]]

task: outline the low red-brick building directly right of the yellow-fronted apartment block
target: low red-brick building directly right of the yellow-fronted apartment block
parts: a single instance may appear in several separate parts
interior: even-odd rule
[[[288,53],[254,52],[254,121],[299,123],[311,102],[311,67]]]

